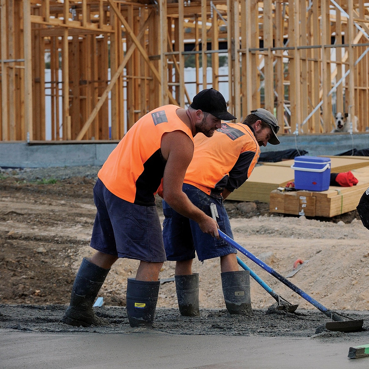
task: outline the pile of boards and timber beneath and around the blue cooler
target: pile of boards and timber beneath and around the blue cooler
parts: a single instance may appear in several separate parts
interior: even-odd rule
[[[294,160],[287,160],[257,166],[250,178],[227,199],[269,202],[271,212],[284,214],[333,217],[352,211],[369,187],[369,158],[327,157],[331,159],[331,173],[351,170],[359,183],[352,187],[330,186],[327,191],[321,192],[282,192],[277,188],[294,180],[294,170],[291,169]]]

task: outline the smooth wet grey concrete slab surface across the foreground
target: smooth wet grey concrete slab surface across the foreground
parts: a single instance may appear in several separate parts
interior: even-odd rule
[[[250,337],[176,335],[145,330],[130,334],[39,333],[0,329],[0,368],[368,368],[369,357],[349,359],[350,336]]]

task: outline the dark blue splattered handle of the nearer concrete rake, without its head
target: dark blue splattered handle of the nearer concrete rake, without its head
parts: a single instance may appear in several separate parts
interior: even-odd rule
[[[313,299],[313,297],[309,296],[306,292],[299,289],[299,287],[295,286],[293,283],[291,283],[288,279],[284,278],[282,275],[277,273],[273,268],[270,268],[269,265],[265,264],[263,261],[261,261],[259,258],[257,258],[255,255],[252,255],[251,252],[247,251],[244,247],[239,245],[236,241],[234,241],[231,237],[228,237],[224,232],[221,230],[218,230],[219,236],[223,238],[225,241],[228,242],[228,244],[232,245],[234,248],[236,248],[238,251],[241,251],[242,254],[247,256],[249,259],[251,259],[253,262],[261,266],[264,270],[266,270],[269,274],[271,274],[273,277],[276,277],[280,282],[285,284],[287,287],[292,289],[294,292],[299,294],[303,299],[310,302],[313,306],[315,306],[318,310],[320,310],[322,313],[327,315],[327,317],[331,318],[334,321],[342,321],[343,319],[339,316],[341,314],[329,310],[322,304],[318,303],[317,300]]]

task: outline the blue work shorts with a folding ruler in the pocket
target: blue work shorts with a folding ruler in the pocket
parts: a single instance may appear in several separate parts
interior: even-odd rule
[[[228,214],[221,199],[215,199],[186,183],[183,184],[182,191],[195,206],[210,217],[212,216],[210,204],[214,203],[219,216],[217,218],[219,229],[233,238]],[[228,254],[237,254],[237,250],[224,239],[218,240],[215,237],[211,237],[210,234],[202,232],[195,221],[178,214],[164,200],[163,213],[165,215],[163,239],[167,260],[182,261],[194,259],[195,250],[200,261]]]

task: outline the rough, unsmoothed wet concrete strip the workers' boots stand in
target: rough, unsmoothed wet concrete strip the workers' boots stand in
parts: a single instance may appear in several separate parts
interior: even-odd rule
[[[27,332],[99,332],[131,333],[146,328],[131,328],[124,307],[94,308],[108,320],[103,327],[72,327],[61,323],[66,306],[2,305],[0,328]],[[293,314],[275,309],[253,310],[250,315],[230,315],[225,309],[201,309],[200,317],[182,317],[178,309],[157,308],[153,329],[167,334],[225,336],[319,337],[323,339],[355,337],[368,340],[368,312],[345,311],[351,318],[365,319],[359,332],[332,332],[325,328],[330,319],[317,310],[298,310]],[[340,323],[338,323],[339,325]]]

